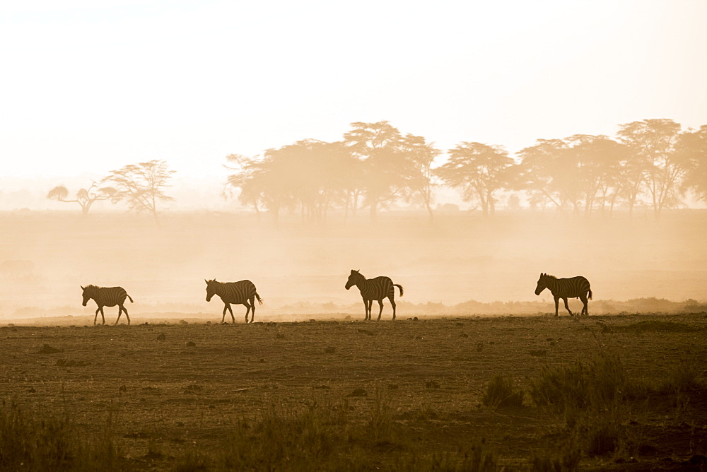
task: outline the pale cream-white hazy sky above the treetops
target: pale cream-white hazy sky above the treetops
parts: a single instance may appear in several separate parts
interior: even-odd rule
[[[383,119],[509,151],[697,127],[705,20],[702,0],[4,2],[0,177],[164,159],[223,178],[229,153]]]

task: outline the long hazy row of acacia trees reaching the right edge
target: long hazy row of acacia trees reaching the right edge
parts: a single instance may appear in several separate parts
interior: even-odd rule
[[[247,158],[228,155],[230,189],[260,213],[298,210],[322,220],[332,208],[346,216],[368,208],[376,218],[394,202],[420,203],[433,218],[434,189],[459,189],[486,216],[499,191],[518,191],[532,208],[611,213],[648,204],[655,216],[684,203],[691,191],[707,201],[707,125],[681,131],[670,119],[619,126],[616,138],[575,134],[539,139],[511,158],[503,146],[461,142],[448,160],[422,136],[402,134],[389,122],[351,124],[334,143],[303,140]]]

